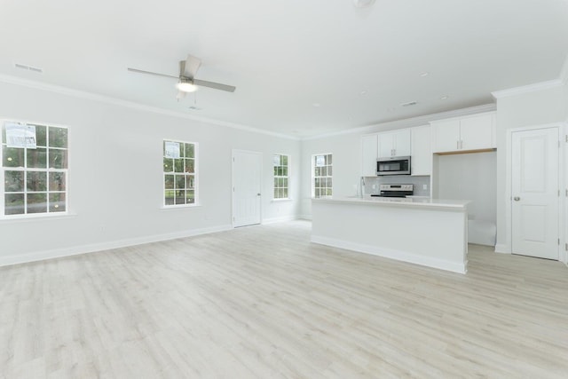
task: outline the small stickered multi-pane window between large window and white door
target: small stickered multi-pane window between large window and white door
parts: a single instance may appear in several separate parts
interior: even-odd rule
[[[197,144],[163,141],[164,206],[197,203]]]

